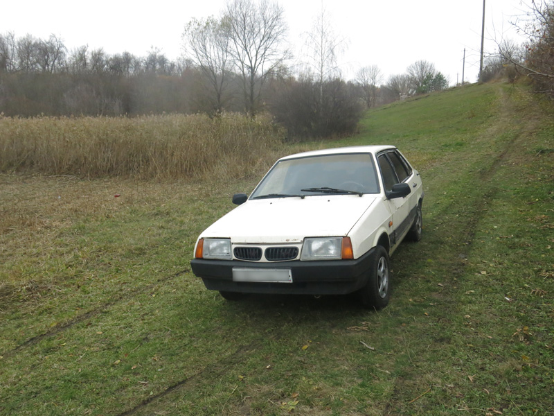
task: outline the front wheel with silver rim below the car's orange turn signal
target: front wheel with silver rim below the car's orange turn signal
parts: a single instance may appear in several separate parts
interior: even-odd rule
[[[382,245],[371,255],[366,286],[360,289],[361,304],[368,309],[383,309],[391,294],[391,261]]]

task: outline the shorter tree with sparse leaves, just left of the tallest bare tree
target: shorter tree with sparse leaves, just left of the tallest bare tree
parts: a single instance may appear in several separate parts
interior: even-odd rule
[[[231,64],[230,39],[222,22],[210,17],[193,19],[183,33],[184,47],[193,62],[202,69],[213,88],[213,108],[221,112]]]

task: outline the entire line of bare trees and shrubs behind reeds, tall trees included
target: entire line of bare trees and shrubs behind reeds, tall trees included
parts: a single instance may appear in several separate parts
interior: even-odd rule
[[[289,139],[350,134],[364,110],[405,96],[445,89],[433,64],[415,62],[383,84],[378,67],[346,81],[337,70],[337,38],[323,14],[307,38],[309,53],[293,71],[284,10],[271,0],[230,0],[220,17],[193,19],[186,50],[170,60],[80,46],[60,37],[0,35],[3,116],[139,116],[268,113]]]

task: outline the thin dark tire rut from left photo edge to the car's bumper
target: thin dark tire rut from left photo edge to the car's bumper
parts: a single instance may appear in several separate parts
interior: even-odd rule
[[[140,288],[133,289],[129,292],[122,293],[118,295],[116,298],[112,299],[110,302],[105,302],[104,304],[97,306],[96,309],[93,309],[92,311],[88,311],[86,313],[83,313],[82,315],[79,315],[73,319],[67,320],[63,324],[56,325],[52,329],[49,329],[48,331],[44,333],[39,333],[37,336],[33,336],[29,338],[28,340],[25,340],[23,343],[17,345],[17,347],[10,349],[6,352],[3,352],[2,356],[4,357],[10,357],[17,354],[21,349],[24,349],[26,347],[31,347],[33,345],[36,345],[40,341],[51,338],[53,336],[57,336],[59,333],[62,333],[63,331],[66,331],[68,329],[71,329],[76,324],[80,324],[81,322],[85,322],[97,315],[101,315],[102,313],[105,313],[109,311],[109,309],[118,304],[119,302],[123,300],[129,300],[129,297],[134,297],[136,295],[139,295],[141,293],[146,293],[149,291],[152,291],[152,288],[155,288],[159,284],[164,284],[166,281],[169,281],[171,279],[175,279],[175,277],[178,277],[180,275],[183,275],[186,272],[190,272],[190,268],[186,268],[184,270],[180,270],[179,272],[175,272],[172,275],[168,275],[166,277],[161,277],[157,281],[154,281],[154,283],[149,284],[148,286],[141,286]]]

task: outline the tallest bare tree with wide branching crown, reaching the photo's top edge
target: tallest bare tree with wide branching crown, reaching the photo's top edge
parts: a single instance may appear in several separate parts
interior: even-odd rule
[[[265,80],[289,57],[284,11],[271,0],[232,0],[222,23],[231,42],[229,52],[242,76],[245,110],[253,116]]]

